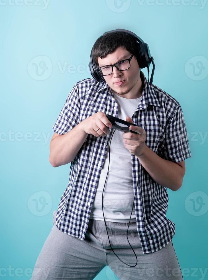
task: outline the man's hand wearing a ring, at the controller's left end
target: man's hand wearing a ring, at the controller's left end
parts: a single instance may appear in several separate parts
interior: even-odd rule
[[[96,137],[106,136],[110,133],[109,127],[112,127],[111,122],[103,112],[97,112],[94,115],[89,116],[84,119],[81,124],[86,133],[92,134]],[[97,129],[98,131],[96,132]]]

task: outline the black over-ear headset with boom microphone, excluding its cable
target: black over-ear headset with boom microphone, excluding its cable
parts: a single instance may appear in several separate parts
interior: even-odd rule
[[[153,79],[153,75],[154,75],[155,65],[154,65],[153,57],[150,55],[150,49],[148,47],[148,44],[144,43],[144,41],[140,37],[138,37],[135,33],[131,32],[129,30],[126,30],[126,29],[115,29],[115,30],[108,31],[106,33],[111,33],[111,32],[125,32],[125,33],[130,34],[134,38],[135,43],[136,43],[136,54],[135,55],[136,55],[137,62],[138,62],[140,69],[145,68],[145,67],[147,67],[149,69],[150,64],[152,63],[152,65],[153,65],[152,75],[150,78],[150,85],[152,85],[152,79]],[[100,36],[100,37],[102,37],[102,36]],[[105,79],[103,78],[101,73],[96,68],[97,67],[92,59],[92,50],[91,50],[90,59],[89,59],[90,73],[97,82],[105,81]]]

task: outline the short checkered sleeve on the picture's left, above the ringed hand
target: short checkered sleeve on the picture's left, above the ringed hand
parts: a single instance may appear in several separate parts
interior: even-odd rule
[[[52,126],[54,132],[62,135],[75,127],[79,123],[79,109],[80,99],[76,83],[70,91],[56,123]]]

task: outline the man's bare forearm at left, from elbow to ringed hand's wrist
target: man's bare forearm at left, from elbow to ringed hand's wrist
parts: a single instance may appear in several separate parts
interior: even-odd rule
[[[82,122],[69,132],[55,137],[50,143],[49,161],[53,167],[58,167],[73,161],[88,133],[82,129]]]

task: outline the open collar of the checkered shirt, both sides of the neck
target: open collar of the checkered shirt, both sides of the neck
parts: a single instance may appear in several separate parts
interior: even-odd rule
[[[142,91],[142,100],[140,103],[141,108],[145,109],[148,106],[148,104],[161,107],[159,100],[157,98],[157,95],[154,91],[154,87],[150,84],[148,86],[148,98],[147,98],[146,91],[147,91],[148,80],[146,79],[146,77],[144,76],[144,73],[141,70],[140,70],[140,77],[144,81],[144,86],[143,86],[143,91]],[[101,86],[95,92],[103,91],[105,89],[107,89],[109,94],[113,96],[113,94],[111,92],[111,88],[109,87],[109,85],[106,82],[101,83]]]

